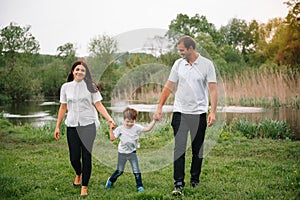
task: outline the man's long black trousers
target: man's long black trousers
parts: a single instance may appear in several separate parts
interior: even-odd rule
[[[184,186],[185,151],[190,131],[192,142],[191,182],[199,182],[203,160],[203,143],[206,131],[206,113],[190,115],[174,112],[171,123],[175,137],[174,180],[175,185]]]

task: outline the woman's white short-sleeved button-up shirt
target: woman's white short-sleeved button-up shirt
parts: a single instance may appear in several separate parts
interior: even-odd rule
[[[101,100],[100,92],[88,91],[85,81],[64,83],[60,90],[60,103],[67,104],[65,124],[69,127],[86,126],[92,123],[99,126],[98,113],[94,104]]]

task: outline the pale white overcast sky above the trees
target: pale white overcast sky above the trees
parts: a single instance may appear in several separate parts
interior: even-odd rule
[[[266,23],[286,17],[285,0],[0,0],[0,28],[14,22],[30,25],[40,53],[56,55],[57,47],[75,44],[77,56],[88,55],[89,42],[101,35],[130,43],[137,35],[168,30],[178,14],[204,15],[216,28],[230,19]],[[139,31],[143,30],[142,33]],[[128,34],[130,39],[126,38]],[[127,47],[127,48],[137,48]]]

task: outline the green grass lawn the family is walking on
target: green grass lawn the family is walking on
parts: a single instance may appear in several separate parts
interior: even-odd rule
[[[1,199],[80,199],[74,188],[74,172],[66,136],[51,139],[53,128],[18,127],[0,119]],[[155,129],[154,131],[159,131]],[[169,125],[153,134],[142,149],[155,149],[170,140]],[[144,148],[144,149],[143,149]],[[85,199],[299,199],[300,142],[268,138],[248,139],[240,133],[222,133],[204,159],[201,183],[184,189],[182,198],[172,197],[172,165],[142,173],[145,191],[137,193],[134,176],[126,172],[113,188],[104,188],[115,170],[93,159],[89,195]],[[112,152],[117,156],[117,150]],[[186,182],[189,180],[187,152]],[[129,165],[129,163],[127,163]]]

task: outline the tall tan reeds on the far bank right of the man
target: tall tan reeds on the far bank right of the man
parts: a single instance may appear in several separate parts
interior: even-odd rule
[[[227,102],[233,105],[300,107],[300,73],[262,67],[223,77]]]

